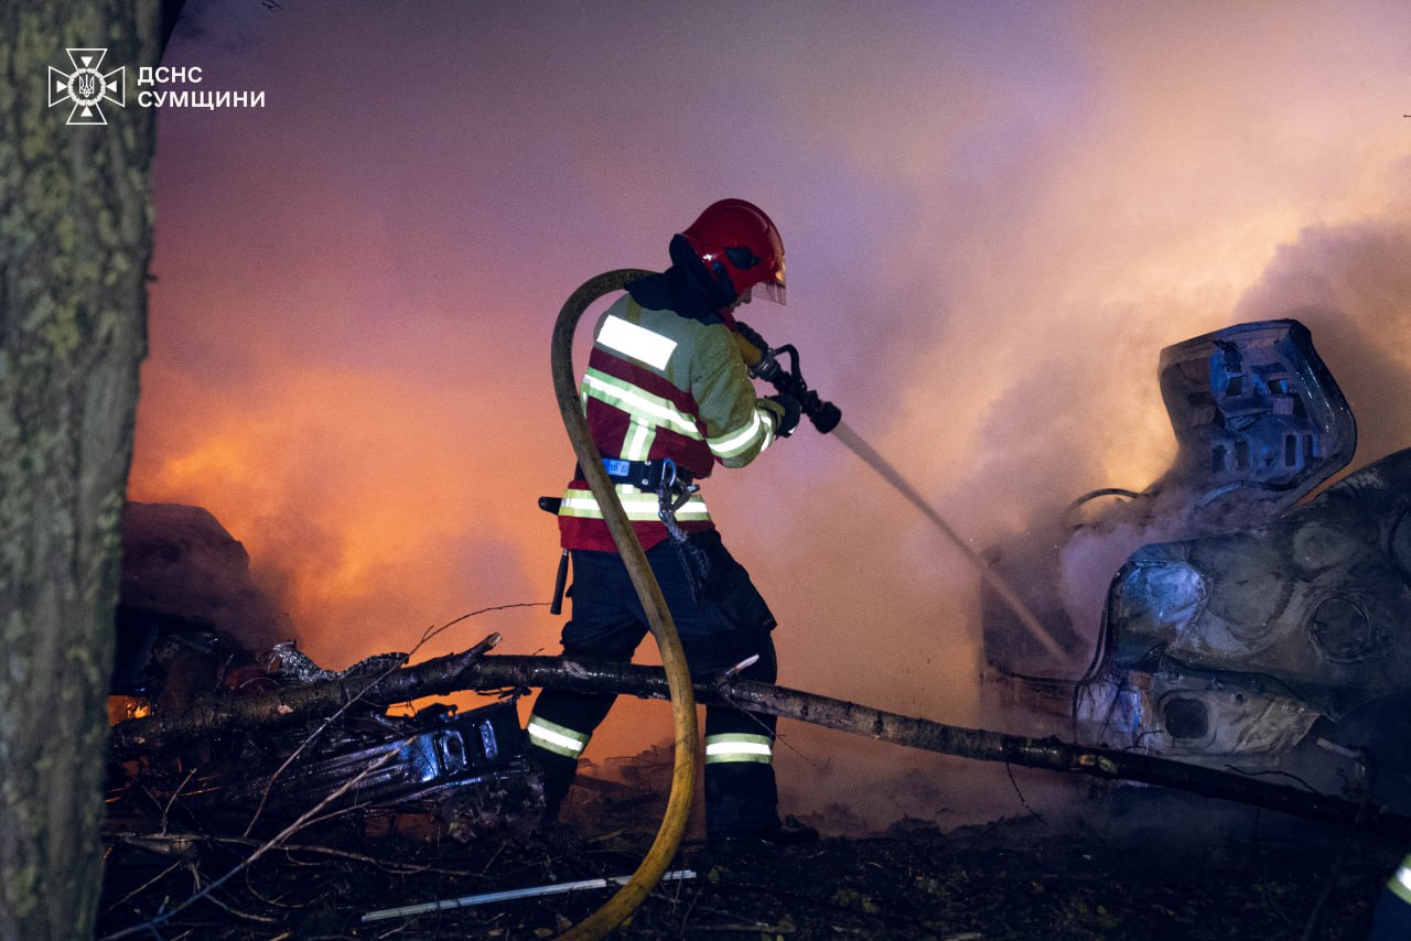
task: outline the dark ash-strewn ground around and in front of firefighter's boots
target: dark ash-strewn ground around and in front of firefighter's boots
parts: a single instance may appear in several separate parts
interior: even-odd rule
[[[665,749],[595,769],[562,827],[461,839],[415,814],[347,814],[248,862],[271,835],[205,821],[110,821],[100,937],[542,938],[590,914],[583,890],[373,913],[629,875],[665,807]],[[611,775],[611,777],[608,777]],[[1065,808],[943,830],[907,818],[786,851],[713,854],[693,822],[621,928],[641,938],[1360,940],[1404,848],[1376,834],[1150,787],[1074,782]],[[213,822],[213,821],[212,821]],[[827,824],[827,821],[820,821]],[[234,876],[185,906],[199,889]],[[168,917],[169,916],[169,917]],[[145,927],[143,927],[145,925]]]

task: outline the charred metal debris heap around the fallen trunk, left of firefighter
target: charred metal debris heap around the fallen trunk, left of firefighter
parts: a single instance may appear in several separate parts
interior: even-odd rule
[[[205,673],[237,656],[213,635],[166,633],[155,645],[141,686],[123,691],[137,712],[152,701],[175,710],[166,683],[185,684],[181,672]],[[334,673],[285,642],[254,662],[216,666],[223,673],[219,691],[188,707],[268,693],[296,703],[302,693],[339,683],[351,693],[339,697],[337,708],[302,721],[253,717],[214,735],[114,762],[109,817],[134,822],[158,814],[164,822],[178,817],[203,828],[213,821],[244,821],[248,831],[257,818],[288,821],[325,804],[330,814],[354,817],[426,814],[461,838],[532,832],[543,811],[542,780],[525,758],[518,696],[466,712],[444,703],[389,712],[382,697],[365,693],[405,660],[405,655],[380,655]],[[277,705],[275,711],[293,708]]]

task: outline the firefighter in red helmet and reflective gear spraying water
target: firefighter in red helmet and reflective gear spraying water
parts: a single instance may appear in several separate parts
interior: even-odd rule
[[[785,302],[785,250],[752,203],[725,199],[669,245],[670,268],[626,285],[594,330],[581,395],[604,459],[662,587],[693,674],[751,657],[746,680],[776,677],[775,618],[725,549],[693,481],[715,463],[744,467],[799,423],[799,403],[758,398],[731,336],[753,296]],[[563,655],[628,662],[646,615],[581,470],[559,509],[573,560]],[[529,717],[545,770],[546,817],[557,815],[588,738],[615,694],[545,690]],[[706,827],[713,846],[816,839],[777,814],[775,717],[721,705],[706,711]]]

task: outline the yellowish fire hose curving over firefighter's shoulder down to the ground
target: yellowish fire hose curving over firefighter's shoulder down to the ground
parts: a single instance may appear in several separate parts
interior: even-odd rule
[[[691,808],[691,790],[696,786],[696,697],[691,693],[691,674],[686,666],[686,650],[676,635],[676,624],[666,608],[662,587],[646,561],[642,543],[628,522],[622,502],[618,499],[612,481],[602,468],[602,456],[588,435],[588,423],[583,416],[579,399],[579,381],[573,371],[573,334],[579,319],[594,300],[611,291],[619,291],[628,282],[650,274],[636,268],[619,268],[591,278],[564,302],[559,319],[553,324],[553,391],[559,399],[563,426],[573,443],[573,453],[583,468],[583,477],[602,509],[612,542],[626,564],[632,587],[642,601],[652,636],[662,652],[666,669],[666,683],[672,697],[672,721],[676,729],[674,765],[672,772],[672,793],[666,800],[666,814],[656,831],[656,839],[642,858],[636,872],[597,911],[569,928],[562,938],[601,938],[618,927],[646,900],[648,893],[662,880],[672,858],[676,855],[686,831],[686,818]]]

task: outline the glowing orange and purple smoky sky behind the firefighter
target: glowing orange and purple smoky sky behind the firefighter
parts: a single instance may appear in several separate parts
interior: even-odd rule
[[[164,62],[265,104],[159,113],[131,497],[207,506],[325,666],[547,601],[555,316],[725,196],[787,250],[742,319],[976,549],[1156,480],[1160,348],[1240,320],[1312,329],[1355,466],[1411,444],[1404,4],[190,0]],[[974,571],[838,442],[704,492],[782,683],[983,722]]]

